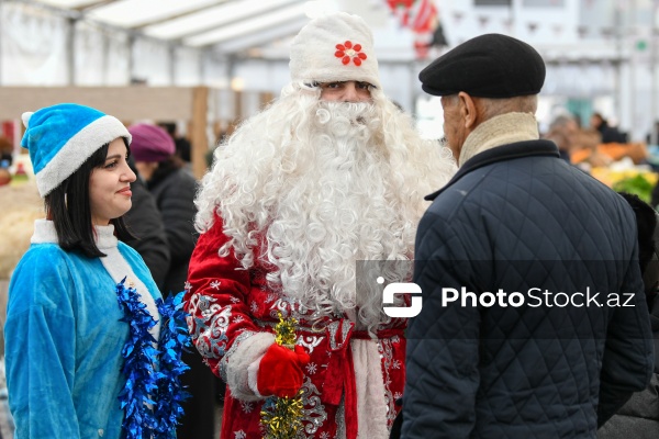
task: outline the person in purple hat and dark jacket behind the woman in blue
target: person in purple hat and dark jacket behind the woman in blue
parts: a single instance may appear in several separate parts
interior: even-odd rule
[[[131,150],[139,178],[154,196],[160,211],[169,246],[170,263],[163,286],[163,295],[183,291],[190,256],[194,249],[194,192],[197,181],[183,169],[176,154],[171,136],[157,125],[131,125]],[[183,384],[191,397],[185,403],[186,415],[177,428],[178,439],[211,439],[214,427],[213,373],[202,363],[201,354],[191,349],[183,353],[190,370],[183,374]]]

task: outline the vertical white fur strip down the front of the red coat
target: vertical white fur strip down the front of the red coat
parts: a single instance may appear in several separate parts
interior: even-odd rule
[[[357,384],[357,439],[388,438],[388,406],[378,344],[373,340],[351,340],[350,348]]]

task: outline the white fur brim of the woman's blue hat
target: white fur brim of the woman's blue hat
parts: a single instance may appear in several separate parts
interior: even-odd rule
[[[129,144],[132,140],[131,133],[114,116],[104,115],[85,126],[36,173],[38,193],[46,196],[80,168],[97,149],[119,137],[126,137]]]

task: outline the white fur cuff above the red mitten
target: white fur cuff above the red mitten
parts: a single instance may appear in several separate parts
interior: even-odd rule
[[[264,397],[254,392],[249,385],[249,365],[266,353],[275,342],[270,333],[258,333],[241,342],[232,353],[226,365],[226,384],[234,398],[241,401],[259,401]]]

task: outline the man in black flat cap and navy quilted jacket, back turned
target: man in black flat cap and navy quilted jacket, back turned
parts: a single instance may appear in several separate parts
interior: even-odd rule
[[[634,212],[539,139],[539,54],[488,34],[433,61],[459,170],[423,216],[404,438],[594,438],[652,371]]]

